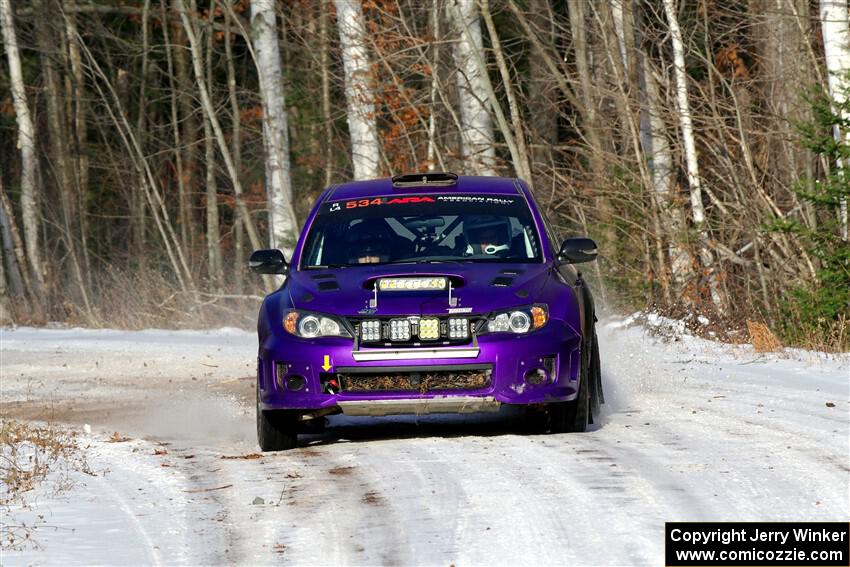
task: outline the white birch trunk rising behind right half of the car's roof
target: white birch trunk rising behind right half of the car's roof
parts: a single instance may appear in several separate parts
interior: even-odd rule
[[[450,0],[449,21],[454,22],[458,40],[454,60],[461,121],[461,154],[464,167],[478,175],[496,175],[496,147],[486,75],[477,58],[483,61],[484,42],[475,0]],[[486,69],[485,69],[486,72]]]

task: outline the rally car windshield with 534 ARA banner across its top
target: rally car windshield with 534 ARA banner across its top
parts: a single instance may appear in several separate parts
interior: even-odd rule
[[[413,262],[539,262],[519,195],[403,195],[323,203],[302,267]]]

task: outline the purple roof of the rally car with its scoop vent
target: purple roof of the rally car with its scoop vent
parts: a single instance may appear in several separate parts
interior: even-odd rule
[[[413,176],[405,176],[413,177]],[[446,183],[399,183],[399,178],[386,177],[368,181],[350,181],[341,183],[328,191],[328,201],[344,201],[365,197],[384,197],[387,195],[410,195],[421,193],[476,193],[489,195],[516,195],[519,193],[517,179],[514,177],[457,176],[451,184]]]

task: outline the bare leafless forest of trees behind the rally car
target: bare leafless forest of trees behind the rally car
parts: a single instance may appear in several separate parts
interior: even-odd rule
[[[597,298],[850,343],[847,0],[0,0],[0,323],[249,326],[329,184],[516,175]]]

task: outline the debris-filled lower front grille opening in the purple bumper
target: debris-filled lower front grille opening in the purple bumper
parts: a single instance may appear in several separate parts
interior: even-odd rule
[[[490,386],[492,367],[389,368],[336,373],[342,392],[439,392],[482,390]]]

